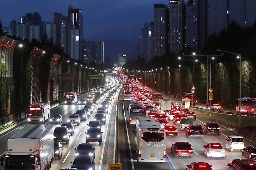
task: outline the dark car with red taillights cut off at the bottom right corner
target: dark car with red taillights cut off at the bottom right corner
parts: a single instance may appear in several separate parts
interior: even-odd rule
[[[252,159],[235,159],[228,163],[228,170],[256,170],[256,161]]]

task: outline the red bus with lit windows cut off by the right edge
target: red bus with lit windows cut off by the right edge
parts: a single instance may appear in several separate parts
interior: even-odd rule
[[[241,97],[241,113],[256,114],[256,97]],[[239,98],[237,99],[237,112],[239,112]]]

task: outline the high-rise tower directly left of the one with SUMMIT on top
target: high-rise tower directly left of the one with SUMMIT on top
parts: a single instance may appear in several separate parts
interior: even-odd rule
[[[154,4],[154,56],[164,56],[168,52],[167,5]]]

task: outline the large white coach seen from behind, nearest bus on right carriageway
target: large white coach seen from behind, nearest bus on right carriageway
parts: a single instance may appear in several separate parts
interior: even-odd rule
[[[138,120],[135,130],[135,148],[139,162],[166,161],[166,135],[157,121]]]

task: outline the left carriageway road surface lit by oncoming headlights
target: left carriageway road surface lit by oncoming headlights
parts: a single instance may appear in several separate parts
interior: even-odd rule
[[[107,88],[107,87],[105,87]],[[118,93],[119,94],[119,93]],[[117,95],[118,96],[118,95]],[[79,99],[87,99],[88,94],[82,95]],[[106,124],[102,125],[102,144],[99,142],[91,142],[96,148],[95,154],[95,169],[104,170],[105,168],[108,169],[106,164],[113,163],[114,159],[114,147],[115,147],[115,129],[116,129],[116,106],[117,106],[117,97],[114,98],[111,105],[109,105],[109,114],[106,117]],[[51,114],[61,114],[63,117],[63,122],[67,121],[67,118],[70,114],[74,114],[78,109],[82,109],[84,105],[60,105],[56,108],[51,109]],[[70,137],[70,142],[68,144],[62,143],[63,146],[63,156],[61,159],[54,159],[51,169],[59,170],[60,168],[70,168],[71,161],[74,160],[74,153],[79,143],[85,143],[85,136],[84,132],[87,131],[87,125],[90,120],[93,120],[93,116],[95,115],[95,111],[98,108],[98,105],[94,106],[94,112],[91,114],[90,117],[87,118],[86,121],[81,120],[81,124],[79,126],[74,125],[74,135]],[[26,124],[26,123],[25,123]],[[7,139],[10,138],[12,135],[18,133],[20,129],[22,129],[24,125],[15,127],[3,134],[0,135],[0,154],[4,154],[6,151],[6,142]],[[49,122],[46,122],[49,124]],[[54,127],[60,125],[54,124]],[[21,146],[22,147],[22,146]],[[2,167],[0,168],[0,170]]]

